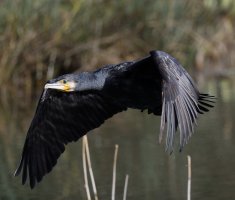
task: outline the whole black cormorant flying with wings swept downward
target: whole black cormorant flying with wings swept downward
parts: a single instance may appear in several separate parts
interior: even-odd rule
[[[33,188],[56,165],[67,143],[128,108],[161,115],[160,140],[166,126],[169,151],[179,128],[182,149],[198,113],[207,112],[213,103],[213,96],[199,93],[180,63],[162,51],[94,72],[60,76],[44,87],[15,176],[22,171],[22,184],[29,177]]]

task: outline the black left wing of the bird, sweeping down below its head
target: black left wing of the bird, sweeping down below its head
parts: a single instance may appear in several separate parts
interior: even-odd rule
[[[23,171],[22,184],[25,184],[29,176],[33,188],[55,166],[65,150],[65,144],[77,141],[125,109],[95,91],[66,93],[44,90],[15,175]]]

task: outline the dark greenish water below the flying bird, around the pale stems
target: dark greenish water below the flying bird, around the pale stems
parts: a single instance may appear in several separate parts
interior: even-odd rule
[[[86,199],[81,140],[67,146],[53,171],[31,190],[13,172],[34,109],[0,109],[0,199]],[[187,155],[192,157],[192,199],[235,199],[235,103],[218,101],[200,116],[182,153],[157,142],[159,117],[129,110],[88,134],[99,199],[111,199],[114,145],[119,144],[116,199],[129,174],[128,200],[186,199]]]

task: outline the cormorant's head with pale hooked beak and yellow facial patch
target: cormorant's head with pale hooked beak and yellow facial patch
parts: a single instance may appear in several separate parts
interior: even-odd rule
[[[63,92],[73,92],[76,90],[77,79],[74,74],[66,74],[58,78],[49,80],[44,89],[55,89]]]

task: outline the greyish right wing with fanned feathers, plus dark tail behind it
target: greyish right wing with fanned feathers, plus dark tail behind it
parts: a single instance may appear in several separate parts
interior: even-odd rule
[[[194,132],[198,113],[207,112],[213,107],[213,97],[200,94],[190,75],[180,63],[169,54],[161,51],[150,52],[162,75],[162,116],[160,141],[165,125],[166,149],[172,151],[177,127],[180,131],[180,150]]]

